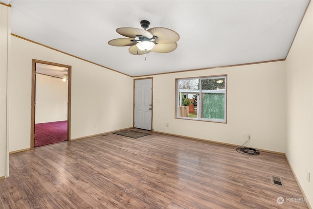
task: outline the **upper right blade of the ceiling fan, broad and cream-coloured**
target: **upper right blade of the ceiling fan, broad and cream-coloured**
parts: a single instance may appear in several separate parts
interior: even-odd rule
[[[165,27],[154,27],[148,29],[148,31],[157,36],[156,43],[158,44],[173,44],[180,38],[177,32]]]

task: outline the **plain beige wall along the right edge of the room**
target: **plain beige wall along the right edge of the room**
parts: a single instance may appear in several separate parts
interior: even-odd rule
[[[313,206],[313,4],[310,3],[286,59],[286,156]],[[307,172],[311,173],[310,182]]]

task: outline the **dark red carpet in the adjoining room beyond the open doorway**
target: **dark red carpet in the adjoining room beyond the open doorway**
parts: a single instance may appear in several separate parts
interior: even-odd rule
[[[67,120],[35,124],[34,147],[67,140]]]

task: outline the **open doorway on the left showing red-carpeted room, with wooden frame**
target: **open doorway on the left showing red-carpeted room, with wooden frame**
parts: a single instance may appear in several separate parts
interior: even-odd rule
[[[70,140],[71,66],[33,60],[31,149]]]

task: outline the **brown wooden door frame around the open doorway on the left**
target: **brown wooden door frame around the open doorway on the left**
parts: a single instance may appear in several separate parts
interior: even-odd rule
[[[31,130],[30,130],[30,148],[34,148],[35,143],[35,94],[36,94],[36,63],[53,65],[67,68],[67,141],[70,141],[70,107],[71,107],[71,69],[69,65],[47,62],[43,60],[32,60],[32,80],[31,80]]]

